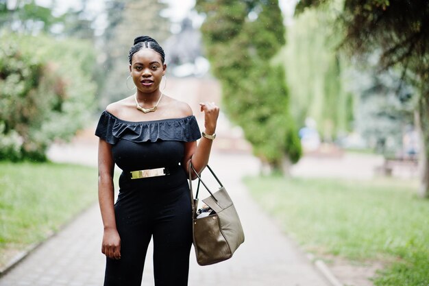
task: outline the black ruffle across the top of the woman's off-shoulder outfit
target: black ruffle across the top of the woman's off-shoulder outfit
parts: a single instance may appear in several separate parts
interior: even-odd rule
[[[201,138],[195,116],[154,121],[125,121],[108,111],[101,113],[95,135],[109,144],[119,140],[136,143],[162,141],[192,142]]]

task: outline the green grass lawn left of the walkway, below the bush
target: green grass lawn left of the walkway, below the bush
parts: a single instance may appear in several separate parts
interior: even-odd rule
[[[96,168],[0,163],[0,267],[96,201]]]

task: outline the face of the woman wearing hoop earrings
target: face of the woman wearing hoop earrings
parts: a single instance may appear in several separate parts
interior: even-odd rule
[[[143,93],[158,90],[167,64],[162,64],[161,56],[153,49],[140,49],[132,56],[130,72],[134,84]]]

